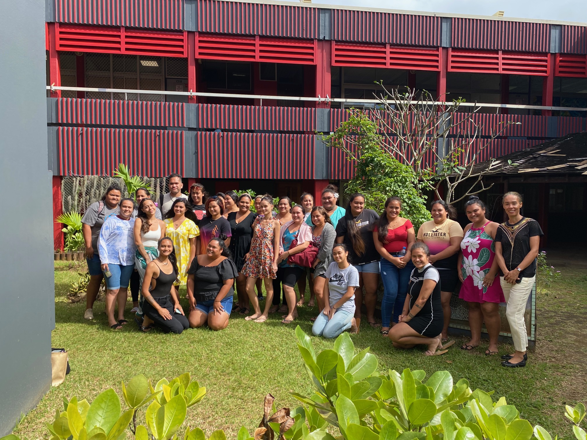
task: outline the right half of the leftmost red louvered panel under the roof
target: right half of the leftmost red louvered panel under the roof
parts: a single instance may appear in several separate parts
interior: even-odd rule
[[[124,53],[187,57],[187,32],[123,31]]]

